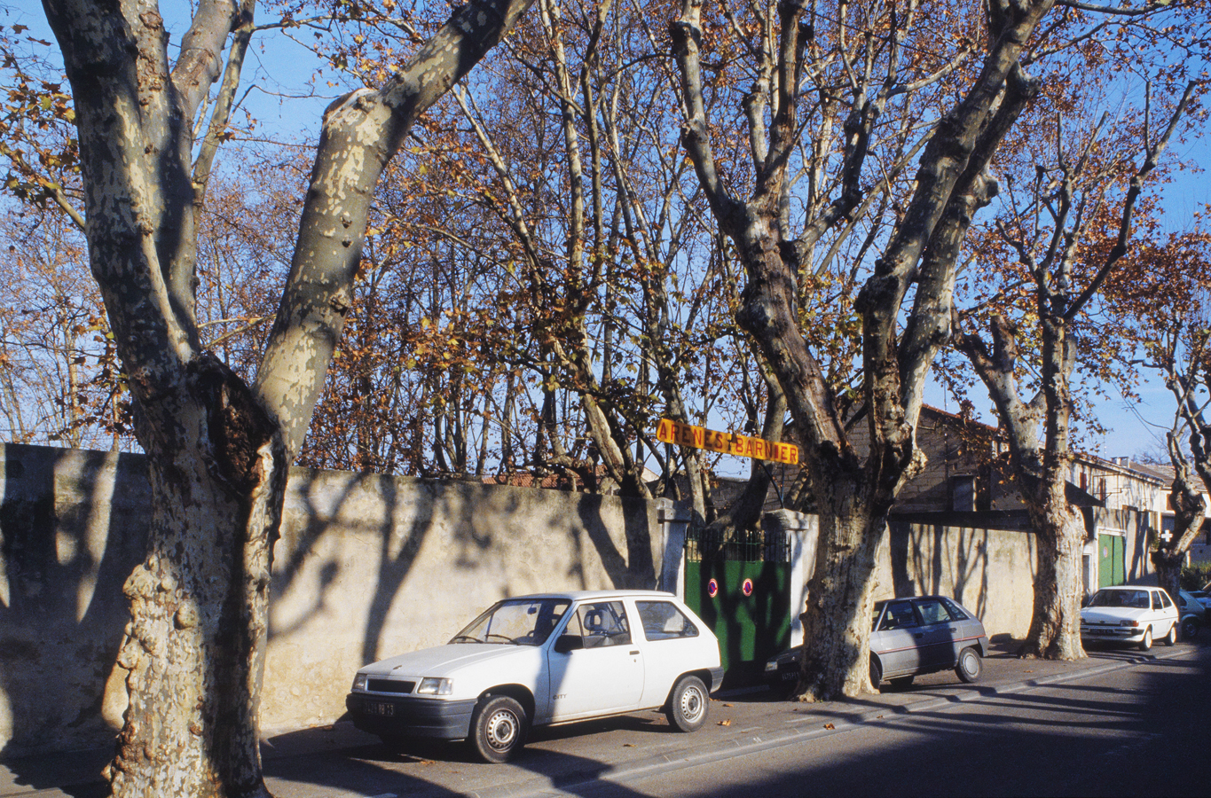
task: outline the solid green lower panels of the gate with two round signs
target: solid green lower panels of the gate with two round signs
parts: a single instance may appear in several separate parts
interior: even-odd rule
[[[710,595],[711,580],[718,586]],[[745,595],[745,581],[752,592]],[[685,563],[685,603],[719,638],[729,685],[756,684],[765,660],[791,645],[791,564],[707,561]]]

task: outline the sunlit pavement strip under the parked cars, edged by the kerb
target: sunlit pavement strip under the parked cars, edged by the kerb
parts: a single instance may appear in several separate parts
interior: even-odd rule
[[[1135,650],[1095,650],[1078,662],[1020,660],[997,645],[983,660],[980,682],[963,684],[946,671],[918,677],[911,688],[884,685],[879,695],[851,701],[784,701],[765,688],[713,696],[708,724],[693,735],[671,731],[662,714],[639,712],[622,718],[536,729],[526,752],[510,765],[486,765],[463,746],[426,746],[415,756],[392,754],[348,722],[268,736],[262,745],[266,782],[276,794],[357,796],[368,776],[339,777],[344,770],[389,774],[398,794],[463,794],[504,798],[569,786],[603,775],[629,775],[670,763],[710,760],[724,753],[759,751],[839,734],[846,727],[884,717],[930,712],[958,701],[1020,693],[1033,687],[1084,678],[1188,653],[1194,643]],[[111,750],[27,757],[0,762],[0,797],[93,798],[107,794],[101,769]],[[309,779],[308,773],[325,777]],[[337,774],[337,775],[333,775]],[[338,786],[339,785],[339,786]],[[381,792],[381,791],[379,791]]]

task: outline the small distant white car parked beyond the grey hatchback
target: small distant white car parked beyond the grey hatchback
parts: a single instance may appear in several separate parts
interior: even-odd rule
[[[1102,587],[1080,610],[1080,642],[1130,643],[1141,651],[1157,638],[1177,642],[1177,605],[1160,587]]]

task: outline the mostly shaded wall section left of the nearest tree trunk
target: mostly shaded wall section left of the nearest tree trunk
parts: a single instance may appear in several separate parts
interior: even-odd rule
[[[65,777],[27,754],[114,740],[103,705],[107,682],[121,678],[115,660],[130,619],[122,585],[147,550],[145,469],[133,454],[5,447],[0,707],[12,731],[0,758],[13,763],[18,783],[41,788]]]

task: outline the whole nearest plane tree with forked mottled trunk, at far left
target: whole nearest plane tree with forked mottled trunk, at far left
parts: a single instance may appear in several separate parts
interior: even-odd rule
[[[78,213],[153,494],[148,555],[124,587],[130,706],[107,770],[114,794],[265,794],[257,700],[272,545],[375,184],[415,119],[527,6],[460,6],[390,76],[327,109],[289,272],[246,380],[202,345],[195,286],[197,209],[257,28],[253,2],[196,4],[172,45],[155,4],[44,4],[71,88]]]

